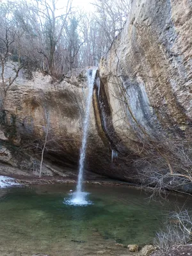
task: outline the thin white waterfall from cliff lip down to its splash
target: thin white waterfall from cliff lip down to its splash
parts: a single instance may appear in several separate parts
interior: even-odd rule
[[[90,204],[90,202],[86,200],[86,196],[88,195],[88,193],[83,192],[82,182],[83,182],[83,172],[84,172],[84,160],[86,156],[88,129],[90,124],[90,109],[91,109],[93,86],[94,86],[96,73],[97,73],[97,68],[89,69],[87,72],[89,93],[86,99],[86,113],[84,116],[84,124],[83,124],[83,140],[82,140],[80,159],[79,159],[79,175],[77,180],[76,192],[74,193],[71,200],[68,200],[68,204],[74,204],[74,205]]]

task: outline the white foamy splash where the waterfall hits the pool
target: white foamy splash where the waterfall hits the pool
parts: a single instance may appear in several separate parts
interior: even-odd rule
[[[64,198],[63,203],[74,206],[87,206],[93,204],[92,201],[87,200],[89,193],[86,192],[74,192],[70,193],[70,198]]]

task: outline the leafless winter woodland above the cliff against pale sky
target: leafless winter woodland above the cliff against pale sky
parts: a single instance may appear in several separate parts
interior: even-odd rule
[[[57,78],[72,68],[98,65],[129,15],[129,0],[116,3],[95,0],[96,12],[86,13],[72,8],[72,0],[63,7],[56,0],[6,0],[0,16],[1,28],[8,28],[8,54],[17,67],[25,60],[29,73],[38,68]]]

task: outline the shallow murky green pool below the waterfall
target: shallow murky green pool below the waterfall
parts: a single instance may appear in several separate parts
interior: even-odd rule
[[[81,256],[99,250],[106,250],[104,255],[126,254],[127,248],[115,243],[151,243],[167,211],[175,209],[175,197],[164,205],[149,204],[147,195],[136,189],[99,186],[85,188],[93,204],[63,204],[70,189],[69,185],[1,189],[0,255]],[[180,197],[177,202],[184,200]]]

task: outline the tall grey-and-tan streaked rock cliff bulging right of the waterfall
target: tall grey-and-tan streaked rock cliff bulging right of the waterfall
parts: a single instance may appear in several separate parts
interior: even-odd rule
[[[126,155],[136,157],[132,164],[145,180],[152,168],[191,181],[191,12],[191,1],[133,1],[122,33],[100,61],[120,138],[116,149],[130,150]]]

